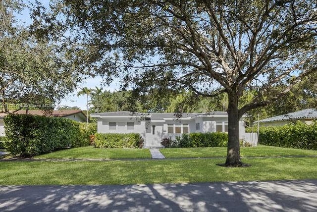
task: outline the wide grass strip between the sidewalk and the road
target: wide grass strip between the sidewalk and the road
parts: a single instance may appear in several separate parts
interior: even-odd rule
[[[217,166],[224,159],[5,161],[2,185],[101,185],[316,179],[317,158],[243,159],[245,168]]]

